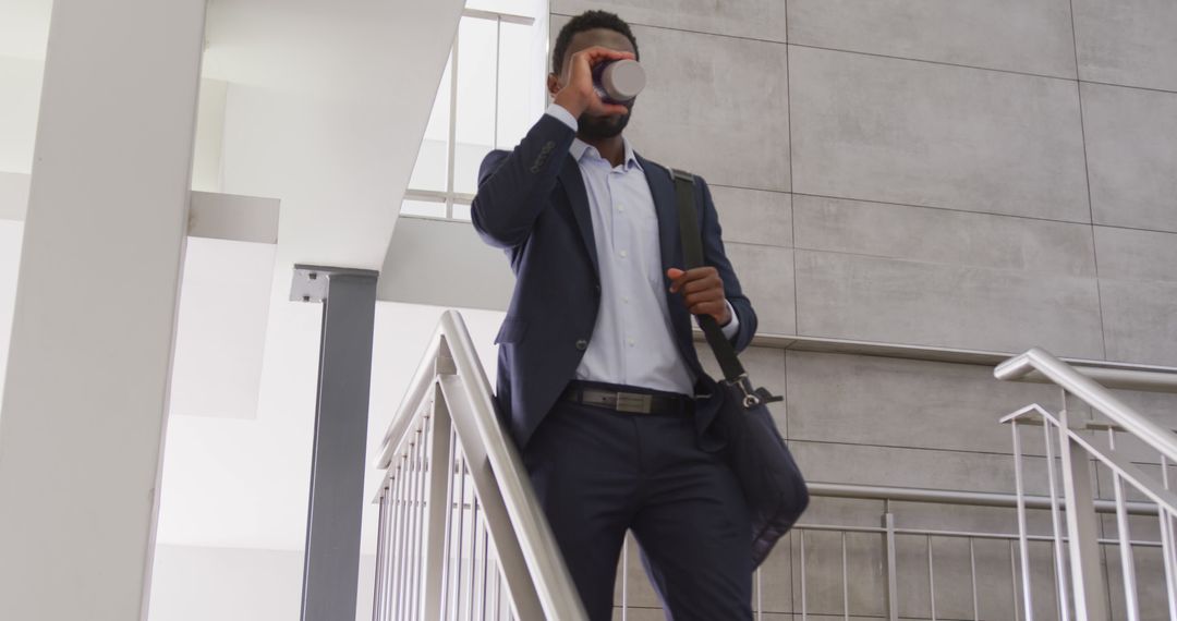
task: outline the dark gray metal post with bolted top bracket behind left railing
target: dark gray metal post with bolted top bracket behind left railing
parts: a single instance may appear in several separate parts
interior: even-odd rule
[[[377,275],[294,266],[291,300],[322,302],[302,621],[355,619]]]

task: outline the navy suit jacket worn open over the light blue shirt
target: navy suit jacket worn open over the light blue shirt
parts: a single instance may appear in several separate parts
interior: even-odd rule
[[[483,160],[471,216],[479,235],[506,251],[516,274],[514,294],[494,342],[499,343],[499,414],[521,448],[576,378],[600,306],[600,273],[588,195],[568,148],[576,138],[567,125],[545,114],[512,152],[494,151]],[[680,294],[670,293],[666,269],[684,268],[678,207],[670,171],[638,155],[658,215],[663,280],[674,343],[698,378],[696,427],[705,448],[718,449],[706,433],[719,406],[714,380],[699,366],[691,323]],[[756,334],[756,312],[740,289],[724,253],[711,192],[696,178],[696,208],[705,263],[724,281],[739,330],[737,350]],[[707,396],[703,396],[707,395]]]

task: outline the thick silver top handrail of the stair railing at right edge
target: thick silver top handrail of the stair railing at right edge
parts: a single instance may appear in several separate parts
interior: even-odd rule
[[[1031,347],[1002,362],[993,369],[993,376],[998,380],[1017,380],[1032,370],[1042,373],[1068,393],[1078,396],[1158,453],[1177,461],[1177,438],[1172,432],[1143,416],[1109,389],[1040,347]]]

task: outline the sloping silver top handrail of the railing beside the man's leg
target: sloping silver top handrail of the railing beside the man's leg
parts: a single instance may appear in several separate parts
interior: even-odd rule
[[[410,441],[415,414],[435,385],[441,387],[446,399],[457,398],[461,401],[461,407],[454,407],[451,412],[455,427],[477,429],[476,434],[464,435],[460,441],[466,450],[472,448],[470,442],[476,442],[477,453],[486,455],[544,615],[547,619],[572,621],[587,619],[556,537],[536,499],[523,460],[496,415],[490,382],[466,325],[457,310],[443,313],[437,332],[385,434],[377,466],[380,469],[388,468],[393,458]],[[473,425],[460,425],[461,421]]]

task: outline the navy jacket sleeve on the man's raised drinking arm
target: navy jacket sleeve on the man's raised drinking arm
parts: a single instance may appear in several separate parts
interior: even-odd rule
[[[474,229],[486,243],[513,248],[527,240],[574,138],[572,128],[544,114],[514,151],[486,155],[470,206]]]

